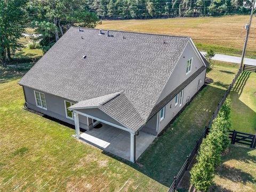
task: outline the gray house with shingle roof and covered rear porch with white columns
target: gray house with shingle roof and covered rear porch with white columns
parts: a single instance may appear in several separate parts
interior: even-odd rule
[[[19,84],[27,108],[134,162],[204,85],[206,66],[189,37],[71,27]]]

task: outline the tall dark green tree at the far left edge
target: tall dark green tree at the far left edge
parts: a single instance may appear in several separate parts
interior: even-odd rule
[[[18,39],[25,33],[27,0],[0,1],[0,61],[3,66],[11,53],[22,47]]]

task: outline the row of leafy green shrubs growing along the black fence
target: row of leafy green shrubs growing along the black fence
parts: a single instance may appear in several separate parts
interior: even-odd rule
[[[210,133],[203,140],[196,157],[197,163],[190,171],[190,183],[198,191],[208,191],[212,185],[215,169],[221,163],[221,154],[230,145],[230,127],[230,99],[228,98],[214,119]]]

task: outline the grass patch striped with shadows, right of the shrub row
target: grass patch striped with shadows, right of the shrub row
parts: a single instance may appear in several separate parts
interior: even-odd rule
[[[222,157],[211,191],[256,191],[256,149],[231,146]]]

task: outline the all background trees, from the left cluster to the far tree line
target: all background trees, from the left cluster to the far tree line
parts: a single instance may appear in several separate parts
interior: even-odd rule
[[[19,39],[32,27],[43,52],[70,26],[93,28],[100,19],[198,17],[249,13],[250,0],[1,0],[0,63],[22,49]]]

